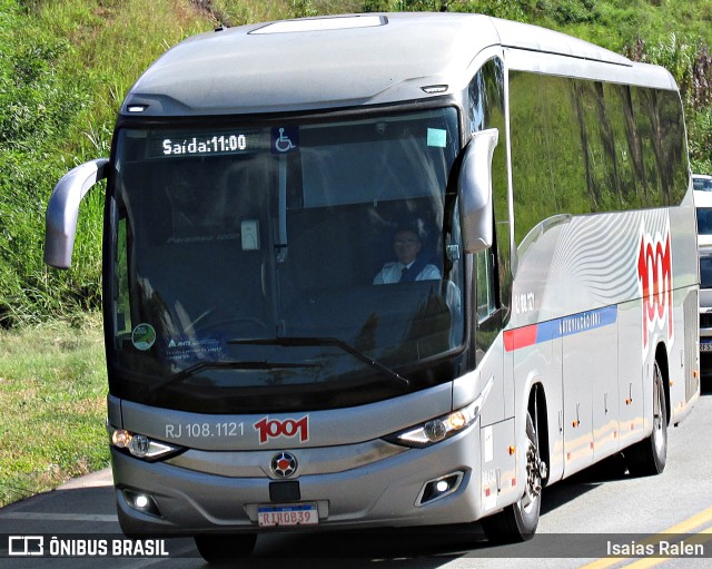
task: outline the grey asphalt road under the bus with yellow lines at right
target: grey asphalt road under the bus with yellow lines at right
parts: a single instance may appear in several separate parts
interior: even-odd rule
[[[708,567],[712,562],[711,433],[712,394],[704,394],[692,415],[670,431],[668,468],[662,475],[612,478],[593,470],[546,489],[538,533],[528,543],[491,547],[477,537],[477,524],[388,533],[280,534],[260,537],[254,558],[231,567],[274,568],[285,565],[283,560],[289,560],[290,569]],[[60,540],[67,533],[87,540],[93,536],[107,540],[108,549],[121,542],[110,484],[110,472],[102,471],[1,509],[0,547],[8,542],[8,534],[42,536],[46,555],[8,557],[7,550],[0,550],[0,565],[10,569],[76,569],[99,563],[107,569],[207,567],[190,539],[166,540],[168,558],[50,558],[48,541],[55,536]],[[650,538],[657,548],[670,541],[668,533],[690,533],[688,545],[698,540],[706,558],[601,559],[611,539],[627,547],[646,547],[644,540]],[[24,541],[13,542],[21,543]],[[37,545],[28,543],[30,548]]]

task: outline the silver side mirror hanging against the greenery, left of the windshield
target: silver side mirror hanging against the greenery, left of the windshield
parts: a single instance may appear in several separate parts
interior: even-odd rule
[[[44,215],[44,263],[69,268],[77,235],[79,203],[87,192],[107,177],[107,158],[98,158],[69,170],[59,180]]]

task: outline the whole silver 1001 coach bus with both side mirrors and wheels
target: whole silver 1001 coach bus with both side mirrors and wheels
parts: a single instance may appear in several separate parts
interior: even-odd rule
[[[128,534],[468,523],[665,465],[699,385],[671,75],[477,14],[218,28],[134,85],[47,210],[107,179],[108,431]],[[478,527],[474,524],[473,527]]]

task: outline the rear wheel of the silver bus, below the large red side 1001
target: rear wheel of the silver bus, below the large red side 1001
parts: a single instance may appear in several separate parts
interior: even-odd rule
[[[631,474],[647,477],[660,474],[665,470],[668,460],[668,404],[665,402],[665,385],[663,374],[655,360],[653,366],[653,432],[650,436],[627,451],[627,469]]]

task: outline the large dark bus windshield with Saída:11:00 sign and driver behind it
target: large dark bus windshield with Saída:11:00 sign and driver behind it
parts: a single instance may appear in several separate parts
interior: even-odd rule
[[[111,390],[199,412],[362,404],[448,381],[464,337],[455,108],[123,128]],[[418,374],[429,363],[431,373]],[[422,375],[422,376],[421,376]]]

